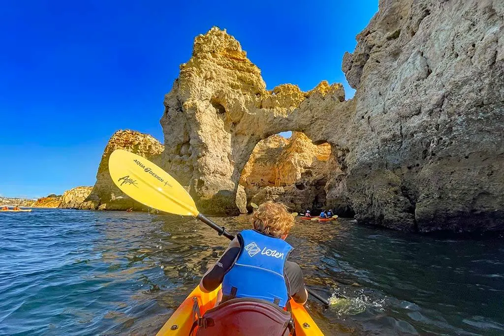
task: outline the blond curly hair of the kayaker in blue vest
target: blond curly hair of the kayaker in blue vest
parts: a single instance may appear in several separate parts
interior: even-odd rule
[[[254,211],[251,222],[255,230],[280,238],[292,229],[294,217],[283,204],[269,200]]]

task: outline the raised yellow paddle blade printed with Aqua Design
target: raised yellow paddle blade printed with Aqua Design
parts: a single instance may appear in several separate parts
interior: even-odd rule
[[[182,216],[199,214],[191,195],[173,177],[139,155],[113,151],[108,171],[122,192],[148,207]]]

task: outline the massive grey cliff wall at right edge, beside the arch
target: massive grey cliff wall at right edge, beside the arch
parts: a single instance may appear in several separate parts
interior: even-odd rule
[[[357,89],[347,197],[401,230],[504,229],[504,2],[380,1],[343,70]]]

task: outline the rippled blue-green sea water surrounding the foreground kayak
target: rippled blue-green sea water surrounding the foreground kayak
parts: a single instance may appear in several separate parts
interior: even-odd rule
[[[246,216],[215,219],[231,231]],[[177,216],[0,214],[0,334],[154,334],[227,245]],[[504,334],[502,237],[448,239],[349,220],[300,221],[287,240],[326,334]]]

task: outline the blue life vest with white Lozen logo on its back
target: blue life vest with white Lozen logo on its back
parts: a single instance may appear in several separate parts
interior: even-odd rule
[[[284,265],[292,246],[284,240],[254,230],[238,234],[238,259],[222,281],[222,293],[236,298],[255,298],[285,307],[289,301]]]

